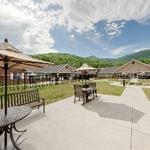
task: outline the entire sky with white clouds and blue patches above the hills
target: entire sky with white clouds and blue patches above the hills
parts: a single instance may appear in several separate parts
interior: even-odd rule
[[[116,58],[150,48],[149,0],[0,0],[0,41],[27,54]]]

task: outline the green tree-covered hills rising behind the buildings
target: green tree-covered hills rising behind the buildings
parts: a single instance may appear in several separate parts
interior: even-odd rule
[[[131,59],[137,59],[144,63],[150,64],[150,50],[143,50],[117,59],[98,58],[95,56],[80,57],[80,56],[66,54],[66,53],[39,54],[39,55],[34,55],[33,57],[44,61],[50,61],[53,62],[54,64],[68,63],[73,67],[80,67],[83,63],[87,63],[88,65],[95,68],[106,67],[106,66],[120,66]]]

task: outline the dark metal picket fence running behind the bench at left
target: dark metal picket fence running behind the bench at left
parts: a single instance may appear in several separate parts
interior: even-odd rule
[[[68,83],[69,79],[51,75],[30,75],[25,74],[24,78],[12,78],[10,75],[8,79],[8,92],[25,90],[27,88],[46,86],[50,84]],[[4,92],[4,76],[0,76],[0,93]]]

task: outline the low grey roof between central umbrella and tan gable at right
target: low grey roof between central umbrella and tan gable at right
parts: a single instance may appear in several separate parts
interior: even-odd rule
[[[118,67],[103,67],[98,70],[98,74],[113,74]]]

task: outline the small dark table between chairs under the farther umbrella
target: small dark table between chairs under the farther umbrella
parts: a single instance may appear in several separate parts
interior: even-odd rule
[[[95,89],[92,87],[82,88],[82,92],[85,94],[85,101],[83,101],[83,105],[90,101],[89,96],[94,92],[94,90]]]

